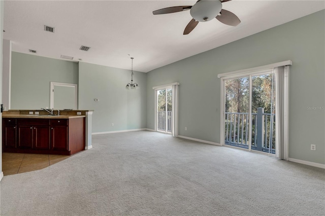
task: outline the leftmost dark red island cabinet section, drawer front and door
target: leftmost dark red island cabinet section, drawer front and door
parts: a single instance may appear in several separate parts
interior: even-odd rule
[[[17,125],[16,119],[3,119],[2,143],[3,149],[16,148]]]

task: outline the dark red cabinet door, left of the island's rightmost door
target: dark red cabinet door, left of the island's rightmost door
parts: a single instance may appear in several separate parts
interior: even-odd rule
[[[33,149],[50,149],[50,127],[34,126],[33,127]]]

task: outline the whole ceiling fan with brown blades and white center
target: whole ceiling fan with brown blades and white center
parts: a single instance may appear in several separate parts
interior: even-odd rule
[[[187,11],[193,19],[187,24],[183,34],[189,34],[199,22],[207,22],[216,18],[226,25],[236,26],[240,23],[239,18],[230,11],[222,9],[222,3],[231,0],[198,0],[193,6],[175,6],[153,11],[153,15],[170,14],[175,12]]]

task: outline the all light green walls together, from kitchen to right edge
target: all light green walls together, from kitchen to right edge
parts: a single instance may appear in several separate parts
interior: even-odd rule
[[[323,10],[147,74],[135,72],[136,90],[124,89],[129,70],[12,52],[11,109],[49,106],[51,81],[74,83],[79,109],[94,110],[92,132],[153,129],[152,87],[179,82],[179,134],[220,142],[217,74],[292,60],[289,157],[325,164],[325,111],[312,109],[325,106],[324,18]]]

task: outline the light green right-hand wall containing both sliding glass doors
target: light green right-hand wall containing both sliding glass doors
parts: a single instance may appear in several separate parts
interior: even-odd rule
[[[289,157],[325,164],[324,10],[192,56],[147,74],[147,128],[154,128],[154,90],[179,82],[179,135],[220,143],[217,74],[292,60]],[[187,131],[184,128],[187,127]],[[310,151],[310,144],[317,151]]]

